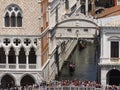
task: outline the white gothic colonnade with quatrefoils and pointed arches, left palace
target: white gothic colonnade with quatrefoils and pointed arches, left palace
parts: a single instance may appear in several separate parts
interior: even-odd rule
[[[40,63],[39,52],[37,38],[1,38],[0,68],[40,68],[37,65],[37,62]]]

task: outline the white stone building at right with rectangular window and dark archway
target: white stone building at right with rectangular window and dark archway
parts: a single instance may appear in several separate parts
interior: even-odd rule
[[[115,22],[118,21],[118,22]],[[101,20],[100,80],[103,85],[119,85],[120,23],[119,16]]]

